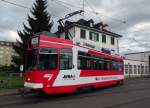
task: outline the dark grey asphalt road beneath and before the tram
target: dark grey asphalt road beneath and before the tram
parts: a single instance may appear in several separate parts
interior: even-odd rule
[[[150,108],[150,78],[80,94],[1,96],[0,108]]]

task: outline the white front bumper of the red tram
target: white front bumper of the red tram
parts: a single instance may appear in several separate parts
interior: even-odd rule
[[[44,86],[43,86],[42,83],[25,82],[25,83],[24,83],[24,87],[33,88],[33,89],[41,89],[41,88],[43,88]]]

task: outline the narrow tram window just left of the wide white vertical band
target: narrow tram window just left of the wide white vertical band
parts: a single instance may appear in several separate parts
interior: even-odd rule
[[[72,69],[72,49],[61,49],[60,50],[60,69],[67,70]]]

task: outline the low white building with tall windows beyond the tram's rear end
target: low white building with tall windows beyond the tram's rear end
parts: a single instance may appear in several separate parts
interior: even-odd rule
[[[129,53],[124,58],[126,76],[141,77],[150,75],[150,51]]]

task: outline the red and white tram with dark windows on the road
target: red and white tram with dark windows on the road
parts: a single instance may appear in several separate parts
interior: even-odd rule
[[[34,36],[30,43],[24,74],[28,89],[70,93],[124,80],[123,60],[118,56],[43,35]]]

